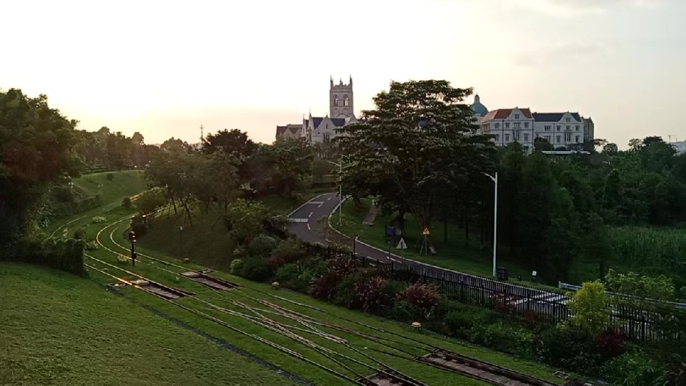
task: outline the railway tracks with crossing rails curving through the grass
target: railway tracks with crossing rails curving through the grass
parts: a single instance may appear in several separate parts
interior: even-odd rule
[[[106,227],[100,229],[96,236],[97,243],[107,251],[115,253],[117,256],[125,256],[122,253],[119,253],[104,245],[100,241],[100,237],[102,236],[102,233],[106,231],[106,229],[113,227],[119,223],[122,223],[127,219],[128,218],[124,218],[123,220],[111,223],[110,225],[107,225]],[[112,229],[112,231],[110,231],[110,242],[113,245],[116,245],[122,251],[128,251],[128,248],[126,246],[116,242],[113,237],[115,231],[117,231],[117,229],[119,229],[120,227],[115,227],[115,229]],[[206,300],[206,298],[208,297],[204,293],[200,293],[199,295],[190,294],[183,296],[189,298],[189,300],[185,301],[184,304],[179,304],[178,302],[176,302],[176,300],[180,299],[181,296],[169,297],[165,296],[165,294],[154,293],[154,291],[150,291],[150,288],[145,288],[145,282],[151,283],[152,280],[147,280],[147,278],[143,277],[142,275],[138,275],[137,273],[133,273],[126,269],[122,269],[119,266],[109,264],[107,262],[104,262],[103,260],[99,260],[89,255],[86,255],[86,257],[97,262],[98,264],[105,264],[110,268],[117,269],[119,271],[127,273],[132,277],[137,277],[137,280],[131,281],[121,279],[115,275],[112,275],[111,273],[103,271],[102,269],[98,269],[96,266],[92,264],[86,264],[86,266],[88,266],[89,269],[93,269],[94,271],[97,271],[104,275],[108,275],[109,277],[113,277],[121,285],[132,286],[133,288],[137,288],[141,291],[152,293],[152,295],[156,295],[157,297],[165,300],[166,302],[174,304],[175,306],[185,309],[191,313],[194,313],[204,319],[220,324],[221,326],[229,328],[234,332],[255,339],[255,341],[259,343],[263,343],[272,348],[276,348],[276,350],[279,350],[287,355],[293,356],[294,358],[300,361],[305,361],[306,363],[309,363],[309,365],[318,367],[320,370],[329,372],[329,374],[332,374],[333,376],[336,376],[344,381],[348,381],[353,384],[377,386],[424,386],[424,384],[421,383],[421,381],[418,381],[410,376],[407,376],[399,372],[398,370],[394,370],[392,367],[388,366],[386,363],[383,363],[381,360],[379,360],[378,357],[374,357],[370,354],[370,352],[377,352],[382,353],[386,356],[394,356],[399,359],[407,361],[416,361],[424,363],[432,367],[455,372],[456,374],[467,376],[469,378],[474,378],[479,381],[483,381],[485,383],[490,383],[493,385],[554,385],[553,383],[549,383],[547,381],[543,381],[537,378],[532,378],[530,376],[526,376],[525,374],[513,372],[512,370],[508,370],[503,367],[498,367],[496,365],[491,365],[490,363],[478,361],[467,356],[462,356],[460,354],[450,352],[449,350],[436,348],[435,346],[429,345],[419,339],[414,339],[403,334],[389,332],[381,328],[377,328],[375,326],[368,326],[360,321],[346,319],[344,317],[334,315],[333,313],[329,313],[326,310],[321,310],[320,308],[316,308],[314,306],[295,302],[294,300],[280,297],[273,293],[260,291],[257,288],[243,288],[235,283],[217,279],[216,277],[206,275],[205,273],[200,271],[189,271],[187,266],[182,266],[179,264],[175,264],[174,262],[154,258],[153,256],[146,255],[145,253],[138,253],[138,256],[150,259],[150,263],[148,264],[154,267],[155,269],[166,271],[167,273],[173,273],[174,275],[178,275],[179,277],[184,277],[187,280],[192,280],[193,282],[196,282],[198,284],[203,284],[207,288],[211,288],[213,290],[211,294],[217,295],[219,297],[209,297],[209,299],[212,300],[212,302],[209,302],[208,300]],[[139,260],[137,260],[137,262],[139,262]],[[160,264],[152,264],[152,262]],[[172,271],[171,269],[177,269],[181,272]],[[154,283],[154,286],[159,285],[165,288],[171,288],[164,286],[164,284],[159,284],[156,282],[152,283]],[[171,290],[176,290],[176,288],[171,288]],[[165,291],[167,291],[168,293],[174,293],[173,291],[168,291],[168,289],[165,289]],[[267,302],[264,299],[259,299],[251,294],[253,292],[259,293],[263,296],[272,297],[274,299],[279,299],[279,301],[287,302],[289,304],[293,304],[295,306],[299,306],[302,308],[310,308],[320,313],[328,314],[331,317],[343,319],[351,323],[355,323],[359,326],[364,326],[364,328],[374,330],[376,333],[366,333],[352,328],[338,326],[334,323],[330,323],[328,319],[326,321],[318,320],[309,315],[303,315],[302,313],[297,313],[296,311],[290,310],[289,308],[285,308],[283,306]],[[258,304],[258,306],[250,306],[244,302],[238,302],[236,300],[236,297],[243,297],[245,299],[249,299],[250,301]],[[194,305],[191,306],[188,302],[193,302]],[[217,305],[217,302],[226,302],[230,305],[230,308],[219,306]],[[283,337],[287,337],[292,341],[296,342],[296,345],[316,350],[316,352],[321,354],[324,358],[328,359],[329,361],[336,363],[338,367],[344,371],[333,370],[331,367],[327,367],[325,365],[322,365],[321,363],[318,363],[317,361],[307,358],[303,356],[303,354],[300,354],[296,350],[294,350],[291,345],[285,346],[283,345],[283,343],[277,344],[274,343],[274,341],[269,341],[264,337],[260,337],[258,334],[251,334],[244,330],[240,330],[235,326],[235,323],[229,323],[226,320],[224,320],[224,318],[210,315],[208,313],[209,311],[201,310],[202,308],[198,308],[198,306],[207,310],[212,310],[213,312],[221,313],[226,317],[240,318],[244,321],[249,321],[250,323],[265,328],[266,330],[270,330],[272,332],[275,332],[276,334],[281,334],[283,335]],[[280,321],[277,319],[279,319]],[[287,322],[284,321],[285,319],[287,319]],[[366,339],[366,341],[368,342],[372,342],[376,345],[390,349],[390,352],[388,350],[379,350],[377,348],[370,348],[370,350],[367,350],[367,347],[356,348],[351,343],[348,343],[348,341],[344,339],[342,336],[337,336],[335,334],[331,334],[330,332],[324,332],[324,330],[322,330],[324,328],[333,330],[337,334],[349,334],[354,337]],[[390,334],[391,338],[384,338],[379,336],[379,334]],[[334,341],[337,345],[340,345],[341,348],[344,348],[351,353],[354,352],[359,356],[357,359],[355,359],[351,356],[343,354],[343,352],[341,352],[340,350],[332,350],[331,348],[324,347],[320,343],[316,343],[315,340],[306,338],[306,335],[307,337],[311,336],[315,337],[316,339],[326,339],[329,341]],[[417,354],[417,352],[429,352],[429,354],[421,355]],[[364,357],[364,359],[361,359],[360,356]],[[362,371],[360,370],[361,368],[365,368],[367,370]],[[372,374],[368,375],[370,372]]]

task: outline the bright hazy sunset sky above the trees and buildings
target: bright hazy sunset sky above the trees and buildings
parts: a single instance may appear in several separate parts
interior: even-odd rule
[[[106,4],[106,5],[105,5]],[[686,139],[684,0],[2,1],[0,89],[149,144],[223,128],[271,142],[390,80],[447,79],[488,109],[579,111],[596,137]],[[471,100],[470,100],[471,102]],[[674,140],[672,137],[672,140]]]

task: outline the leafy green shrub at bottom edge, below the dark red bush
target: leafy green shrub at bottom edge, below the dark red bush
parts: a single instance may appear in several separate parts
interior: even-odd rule
[[[617,386],[657,385],[664,366],[643,352],[627,352],[603,366],[602,374]]]

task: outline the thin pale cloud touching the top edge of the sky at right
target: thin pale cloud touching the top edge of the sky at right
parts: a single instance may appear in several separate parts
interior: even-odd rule
[[[603,14],[614,7],[656,8],[664,0],[506,0],[508,5],[554,16]]]

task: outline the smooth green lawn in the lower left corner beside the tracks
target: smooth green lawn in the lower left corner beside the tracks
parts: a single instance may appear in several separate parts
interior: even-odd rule
[[[0,385],[290,384],[90,280],[0,264]]]

